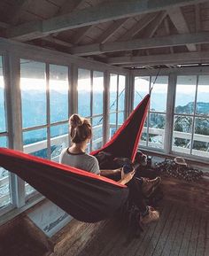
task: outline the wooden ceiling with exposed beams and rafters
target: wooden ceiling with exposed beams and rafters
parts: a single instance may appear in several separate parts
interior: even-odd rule
[[[209,62],[209,0],[1,0],[0,36],[128,68]]]

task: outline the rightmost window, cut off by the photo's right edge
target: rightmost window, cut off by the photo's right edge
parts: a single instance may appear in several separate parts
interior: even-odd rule
[[[209,157],[209,75],[178,76],[172,150]]]

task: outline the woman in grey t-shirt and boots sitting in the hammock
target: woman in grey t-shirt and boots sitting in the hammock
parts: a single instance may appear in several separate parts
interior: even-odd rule
[[[144,202],[143,182],[140,186],[135,178],[133,178],[135,170],[128,174],[124,174],[123,169],[99,170],[97,159],[86,153],[87,144],[92,137],[92,128],[89,120],[81,118],[78,114],[73,114],[70,117],[70,136],[72,145],[61,152],[60,163],[77,167],[96,175],[109,176],[120,173],[121,178],[119,182],[128,185],[129,200],[134,202],[135,206],[139,208],[141,213],[140,221],[145,224],[159,220],[159,212],[154,211],[151,206],[146,206]],[[152,183],[148,182],[148,185],[152,185]]]

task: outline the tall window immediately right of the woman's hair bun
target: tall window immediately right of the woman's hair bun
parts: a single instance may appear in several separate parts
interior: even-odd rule
[[[104,73],[78,70],[78,113],[89,118],[93,136],[88,151],[94,151],[103,144],[103,94]]]

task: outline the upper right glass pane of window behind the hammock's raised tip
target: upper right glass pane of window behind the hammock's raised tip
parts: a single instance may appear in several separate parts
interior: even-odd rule
[[[166,112],[168,76],[159,76],[156,81],[155,79],[155,76],[151,77],[151,111]]]

